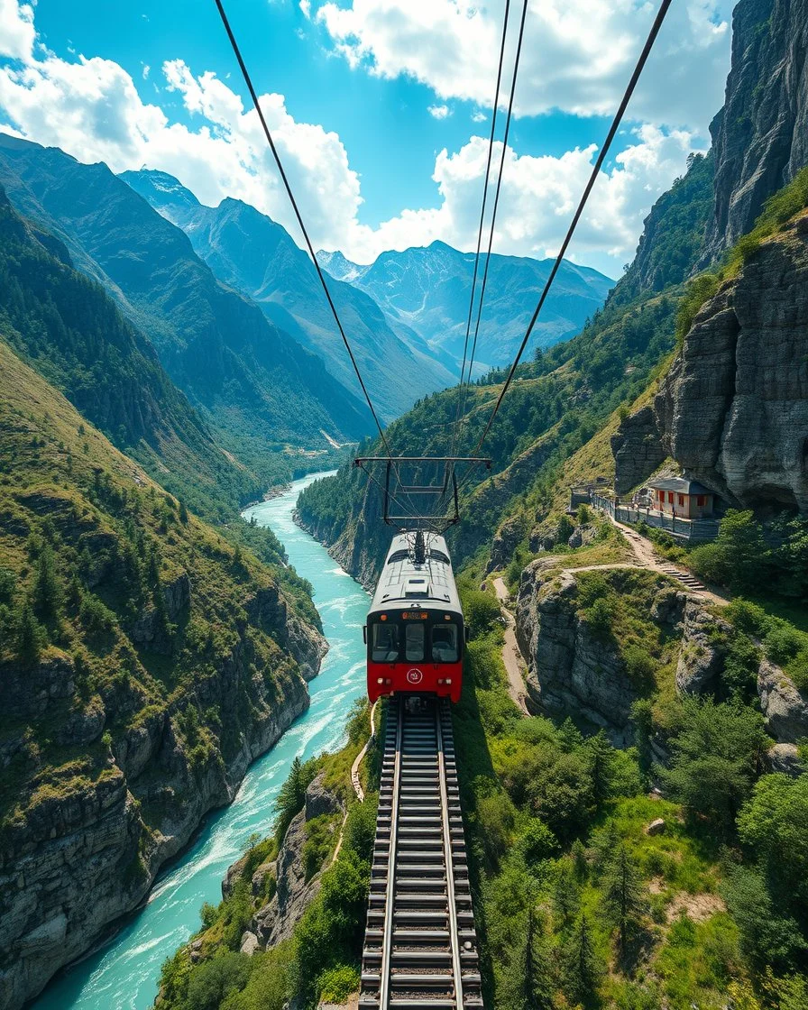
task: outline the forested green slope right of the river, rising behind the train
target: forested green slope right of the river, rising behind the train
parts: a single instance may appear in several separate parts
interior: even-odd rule
[[[692,269],[698,257],[693,236],[704,228],[711,188],[711,161],[694,158],[687,175],[658,202],[646,222],[646,231],[664,236],[671,260],[664,261],[665,271],[653,266],[653,242],[643,235],[642,255],[583,331],[548,350],[539,349],[532,362],[520,366],[485,443],[492,473],[470,476],[464,489],[463,521],[449,532],[458,564],[483,544],[491,544],[511,513],[508,549],[526,538],[552,501],[553,481],[565,461],[621,405],[633,403],[659,373],[676,342],[681,282],[687,277],[687,264]],[[460,454],[474,448],[504,378],[504,371],[491,372],[471,387]],[[390,426],[392,450],[445,453],[457,404],[457,390],[416,404]],[[367,454],[380,451],[378,445],[362,451],[366,449]],[[610,459],[606,465],[613,468]],[[362,472],[343,468],[336,477],[307,488],[298,506],[307,528],[333,546],[349,571],[366,581],[378,572],[389,542],[389,529],[380,521],[380,494]]]

